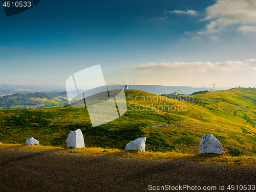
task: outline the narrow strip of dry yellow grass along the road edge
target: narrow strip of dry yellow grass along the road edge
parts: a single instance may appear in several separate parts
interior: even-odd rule
[[[33,152],[48,152],[48,153],[68,153],[81,155],[97,155],[97,156],[114,156],[121,158],[136,158],[136,159],[151,159],[151,160],[168,160],[168,161],[190,161],[208,164],[228,164],[239,166],[256,166],[256,157],[240,155],[233,157],[230,154],[189,154],[179,151],[173,152],[140,152],[140,151],[124,151],[110,148],[61,148],[61,147],[46,147],[38,145],[18,145],[18,144],[2,144],[1,150],[15,151],[33,151]]]

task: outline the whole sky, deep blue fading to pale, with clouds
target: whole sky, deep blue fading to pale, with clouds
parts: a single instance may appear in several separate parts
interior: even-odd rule
[[[100,64],[105,83],[256,86],[254,0],[44,0],[1,7],[0,25],[0,84],[65,84]]]

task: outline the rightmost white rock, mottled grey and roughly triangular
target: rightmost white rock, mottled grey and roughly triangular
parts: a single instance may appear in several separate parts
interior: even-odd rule
[[[199,145],[199,150],[201,154],[203,153],[222,154],[223,153],[223,148],[221,146],[221,143],[212,134],[202,136],[201,142]]]

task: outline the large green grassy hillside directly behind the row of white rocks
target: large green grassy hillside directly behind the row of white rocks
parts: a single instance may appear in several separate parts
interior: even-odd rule
[[[211,133],[219,139],[226,153],[256,152],[256,129],[244,118],[139,90],[125,90],[125,95],[127,112],[115,121],[94,128],[87,109],[67,106],[0,110],[0,141],[25,143],[26,139],[34,137],[41,145],[65,147],[68,133],[81,129],[87,147],[123,150],[127,142],[145,136],[147,151],[177,149],[182,153],[199,154],[201,137]]]

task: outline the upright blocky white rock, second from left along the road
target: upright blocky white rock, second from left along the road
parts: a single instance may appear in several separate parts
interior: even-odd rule
[[[66,140],[67,148],[84,148],[83,135],[80,129],[70,131]]]

